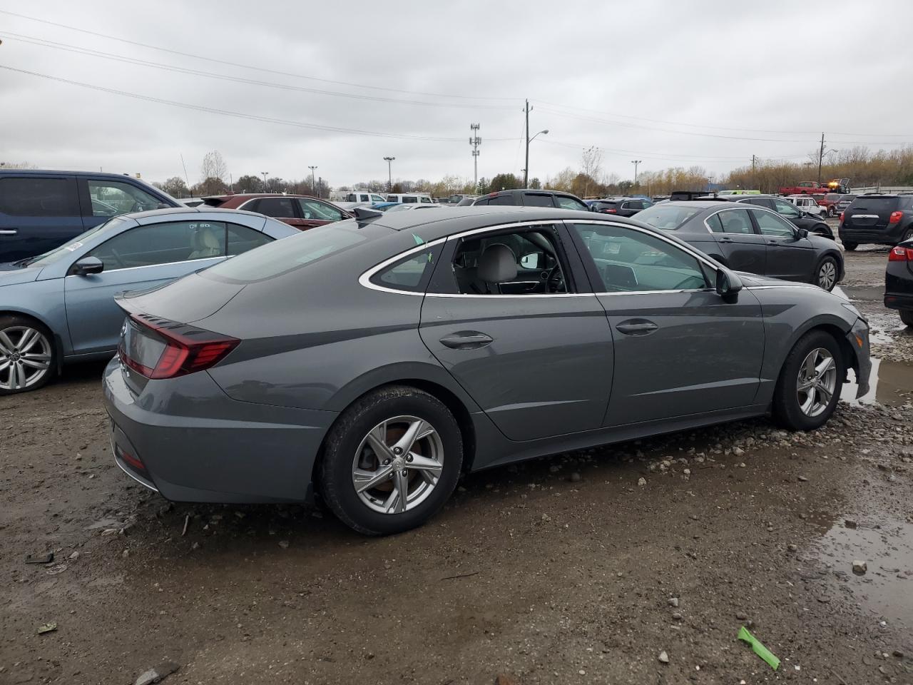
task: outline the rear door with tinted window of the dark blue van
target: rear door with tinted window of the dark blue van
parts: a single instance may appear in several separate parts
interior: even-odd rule
[[[74,176],[0,177],[0,262],[43,254],[83,230]]]

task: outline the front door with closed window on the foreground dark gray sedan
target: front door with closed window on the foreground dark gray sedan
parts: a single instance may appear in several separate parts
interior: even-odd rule
[[[750,291],[724,301],[710,262],[645,228],[570,229],[614,336],[606,427],[752,405],[764,326]]]

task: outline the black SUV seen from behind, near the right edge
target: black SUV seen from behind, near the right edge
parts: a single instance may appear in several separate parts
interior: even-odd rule
[[[846,249],[897,245],[913,238],[913,195],[857,195],[837,229]]]

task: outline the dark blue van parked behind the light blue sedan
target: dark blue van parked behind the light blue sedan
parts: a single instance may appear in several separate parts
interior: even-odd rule
[[[86,172],[0,171],[0,262],[58,248],[111,216],[177,200],[140,179]]]

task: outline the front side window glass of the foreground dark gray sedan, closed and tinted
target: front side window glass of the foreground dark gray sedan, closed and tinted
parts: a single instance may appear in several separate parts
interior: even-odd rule
[[[698,290],[707,279],[698,258],[631,228],[572,224],[603,282],[604,292]]]

